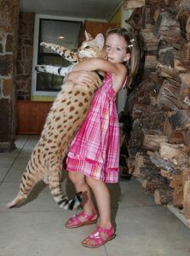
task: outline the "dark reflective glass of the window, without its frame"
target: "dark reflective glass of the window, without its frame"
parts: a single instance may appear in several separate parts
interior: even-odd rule
[[[40,19],[39,44],[41,42],[63,45],[68,49],[78,49],[78,37],[81,30],[81,21]],[[66,67],[71,63],[63,59],[50,49],[38,45],[38,65],[52,65]],[[49,73],[37,73],[37,88],[39,91],[60,90],[63,78]]]

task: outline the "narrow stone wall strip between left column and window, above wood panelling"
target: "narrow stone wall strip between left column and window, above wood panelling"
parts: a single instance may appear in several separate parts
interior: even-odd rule
[[[31,99],[34,19],[34,14],[20,13],[15,81],[17,100]]]

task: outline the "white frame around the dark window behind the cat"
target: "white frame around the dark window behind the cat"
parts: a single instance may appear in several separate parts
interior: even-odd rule
[[[34,24],[34,38],[33,38],[33,59],[32,59],[32,90],[31,97],[33,96],[57,96],[58,91],[42,91],[37,89],[37,72],[35,71],[35,66],[37,65],[37,50],[39,41],[39,24],[40,19],[49,20],[71,20],[71,21],[82,21],[84,19],[75,17],[65,17],[65,16],[55,16],[55,15],[35,15]]]

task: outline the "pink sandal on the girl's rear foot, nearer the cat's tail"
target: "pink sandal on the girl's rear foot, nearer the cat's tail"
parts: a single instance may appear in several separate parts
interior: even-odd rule
[[[85,218],[86,220],[81,221],[80,217]],[[92,215],[87,215],[85,212],[78,212],[78,214],[75,214],[72,218],[69,218],[66,221],[65,226],[67,229],[74,229],[84,225],[95,224],[98,217],[98,212],[95,212]]]

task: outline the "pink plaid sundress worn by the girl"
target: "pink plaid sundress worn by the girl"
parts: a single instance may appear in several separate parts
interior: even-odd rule
[[[112,76],[107,73],[72,140],[66,160],[68,171],[82,172],[105,183],[118,182],[119,128],[115,98]]]

